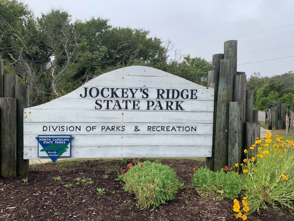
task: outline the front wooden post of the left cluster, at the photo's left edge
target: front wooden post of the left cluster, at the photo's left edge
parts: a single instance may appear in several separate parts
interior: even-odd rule
[[[1,176],[16,177],[16,99],[0,98]]]

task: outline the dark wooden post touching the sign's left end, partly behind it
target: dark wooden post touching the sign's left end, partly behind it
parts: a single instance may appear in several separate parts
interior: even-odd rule
[[[29,107],[29,86],[15,85],[15,98],[17,103],[16,122],[17,122],[17,176],[29,173],[29,160],[24,160],[24,108]]]

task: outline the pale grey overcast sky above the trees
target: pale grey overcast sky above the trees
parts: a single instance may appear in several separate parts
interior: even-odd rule
[[[151,36],[171,39],[183,55],[211,60],[223,53],[223,41],[190,47],[206,42],[232,38],[238,40],[238,54],[294,44],[294,25],[250,34],[294,23],[293,0],[283,1],[173,1],[173,0],[25,0],[36,16],[61,7],[73,19],[103,17],[113,26],[145,28]],[[189,48],[186,48],[189,47]],[[238,56],[238,64],[294,55],[294,45],[275,50]],[[173,57],[173,53],[171,53]],[[262,76],[280,75],[294,70],[294,57],[238,65],[249,77],[253,72]]]

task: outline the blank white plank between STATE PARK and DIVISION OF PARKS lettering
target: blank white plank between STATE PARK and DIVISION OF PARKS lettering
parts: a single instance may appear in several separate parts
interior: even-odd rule
[[[213,112],[24,110],[24,122],[212,123]]]

